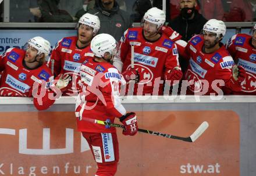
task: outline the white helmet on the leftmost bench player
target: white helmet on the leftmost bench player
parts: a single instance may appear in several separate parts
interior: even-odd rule
[[[38,50],[37,55],[44,53],[45,56],[48,56],[51,51],[50,42],[42,37],[33,37],[28,44]]]

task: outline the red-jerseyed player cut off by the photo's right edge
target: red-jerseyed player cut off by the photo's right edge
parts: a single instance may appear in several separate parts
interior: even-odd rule
[[[227,41],[226,48],[234,62],[246,70],[246,81],[238,95],[256,95],[256,25],[252,29],[253,36],[248,34],[233,35]]]

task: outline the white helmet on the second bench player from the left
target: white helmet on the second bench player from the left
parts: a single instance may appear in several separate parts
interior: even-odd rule
[[[86,13],[83,16],[81,16],[78,23],[92,27],[93,28],[93,33],[95,33],[95,34],[98,33],[98,30],[101,27],[99,17],[96,16],[96,15],[92,15],[90,13]]]

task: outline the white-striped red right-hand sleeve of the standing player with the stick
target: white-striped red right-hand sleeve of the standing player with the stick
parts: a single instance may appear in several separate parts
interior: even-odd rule
[[[102,77],[101,92],[106,102],[106,109],[114,117],[121,117],[126,114],[120,99],[120,85],[123,84],[123,77],[117,69],[108,69]]]

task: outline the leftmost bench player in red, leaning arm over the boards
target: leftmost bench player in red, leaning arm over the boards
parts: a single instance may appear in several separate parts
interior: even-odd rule
[[[0,96],[40,95],[33,99],[34,106],[38,110],[51,106],[55,99],[50,99],[49,93],[56,94],[56,89],[47,89],[54,82],[54,76],[45,64],[45,58],[50,51],[51,45],[46,39],[34,37],[29,40],[26,51],[10,48],[0,56],[0,71],[3,71]],[[34,88],[38,88],[37,91]]]

